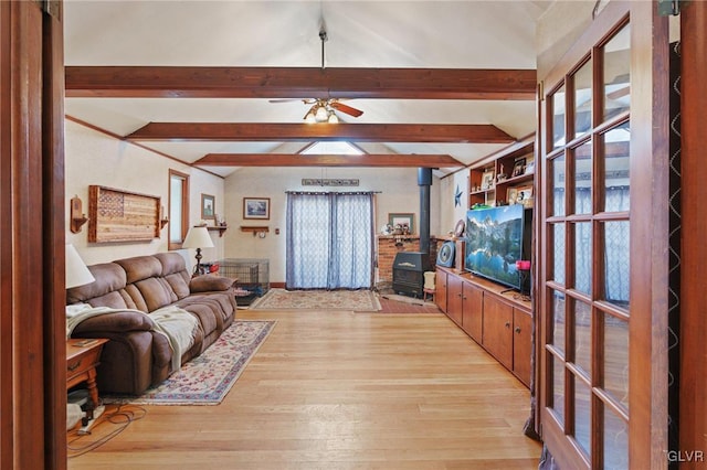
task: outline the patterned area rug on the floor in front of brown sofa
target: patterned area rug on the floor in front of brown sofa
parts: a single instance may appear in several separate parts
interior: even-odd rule
[[[139,397],[104,396],[106,403],[218,405],[267,338],[275,321],[236,320],[215,343]]]

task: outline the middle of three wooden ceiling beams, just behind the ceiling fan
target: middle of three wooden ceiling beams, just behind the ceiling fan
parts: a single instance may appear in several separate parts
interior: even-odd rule
[[[150,141],[335,141],[509,143],[492,125],[150,122],[126,136]]]

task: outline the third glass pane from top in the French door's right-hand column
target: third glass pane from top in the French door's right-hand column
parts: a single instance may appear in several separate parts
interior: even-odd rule
[[[605,222],[604,234],[604,298],[629,310],[629,221]]]

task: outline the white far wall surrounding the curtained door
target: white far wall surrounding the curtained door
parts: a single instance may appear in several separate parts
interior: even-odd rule
[[[303,186],[303,178],[358,179],[359,186]],[[415,233],[420,233],[420,189],[418,170],[339,169],[339,168],[243,168],[226,178],[224,234],[226,258],[268,258],[271,282],[285,281],[285,206],[286,191],[380,191],[377,195],[377,231],[388,222],[389,213],[413,213]],[[243,220],[243,197],[270,197],[270,221]],[[430,190],[430,234],[440,231],[440,180],[433,178]],[[241,232],[241,225],[267,225],[265,238]],[[279,235],[275,234],[279,229]]]

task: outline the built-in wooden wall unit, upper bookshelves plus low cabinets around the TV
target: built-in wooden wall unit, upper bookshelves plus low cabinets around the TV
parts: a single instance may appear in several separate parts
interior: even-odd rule
[[[472,167],[468,207],[507,204],[532,207],[534,150],[535,136],[527,136]],[[436,305],[529,387],[534,328],[530,298],[464,270],[464,243],[456,242],[456,268],[436,266]]]

